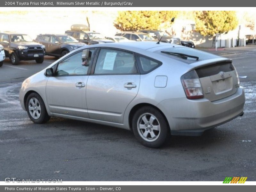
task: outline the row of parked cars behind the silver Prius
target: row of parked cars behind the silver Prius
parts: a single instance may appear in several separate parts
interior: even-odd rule
[[[36,60],[37,63],[43,63],[44,55],[59,58],[86,45],[129,41],[160,41],[195,48],[191,41],[181,41],[178,37],[168,36],[158,30],[125,31],[105,37],[95,31],[89,31],[86,25],[75,24],[71,26],[71,30],[65,31],[65,34],[40,34],[34,41],[26,34],[0,33],[0,44],[4,47],[5,57],[9,57],[13,65],[17,65],[20,60]],[[2,65],[0,58],[0,66]]]

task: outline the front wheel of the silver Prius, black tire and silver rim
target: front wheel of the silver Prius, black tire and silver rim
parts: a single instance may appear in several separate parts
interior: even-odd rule
[[[35,100],[37,100],[39,102],[40,113],[39,113],[39,107],[37,105],[37,101],[35,101]],[[33,103],[33,101],[35,101],[34,106],[31,105],[31,103]],[[31,108],[34,108],[34,109],[30,110]],[[43,99],[37,93],[30,93],[28,95],[28,98],[26,100],[26,109],[27,109],[28,116],[31,119],[31,121],[33,121],[36,124],[46,123],[51,118],[46,111]],[[35,115],[36,114],[39,114],[39,115],[36,115],[36,117],[33,116],[34,111],[35,111]],[[36,113],[36,111],[37,111],[37,113]]]

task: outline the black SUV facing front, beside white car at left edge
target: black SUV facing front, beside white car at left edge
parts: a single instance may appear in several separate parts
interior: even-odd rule
[[[13,65],[17,65],[20,60],[44,62],[44,45],[33,42],[26,34],[0,33],[0,44],[4,46],[5,56],[10,58]]]

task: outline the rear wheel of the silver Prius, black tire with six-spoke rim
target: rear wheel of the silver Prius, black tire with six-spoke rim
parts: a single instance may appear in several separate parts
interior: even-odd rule
[[[148,123],[143,121],[144,117]],[[155,120],[151,121],[151,117]],[[159,125],[159,131],[156,130],[157,125]],[[141,127],[142,129],[140,129]],[[171,136],[169,126],[162,113],[150,106],[142,107],[134,113],[132,131],[142,145],[150,148],[161,147]],[[146,134],[146,137],[143,136],[144,134]],[[156,137],[151,137],[151,134]]]

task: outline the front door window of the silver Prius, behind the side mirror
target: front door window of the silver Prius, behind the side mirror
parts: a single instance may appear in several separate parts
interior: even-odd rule
[[[83,51],[62,60],[57,67],[57,76],[87,75],[93,53],[94,49],[90,49],[86,60],[83,58]]]

